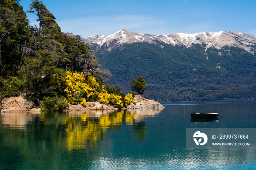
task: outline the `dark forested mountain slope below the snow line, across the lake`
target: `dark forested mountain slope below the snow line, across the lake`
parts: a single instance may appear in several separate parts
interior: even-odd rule
[[[94,53],[113,74],[107,82],[124,92],[130,90],[128,80],[143,76],[143,97],[157,101],[255,100],[256,55],[237,47],[205,47],[138,42],[110,51],[103,45]]]

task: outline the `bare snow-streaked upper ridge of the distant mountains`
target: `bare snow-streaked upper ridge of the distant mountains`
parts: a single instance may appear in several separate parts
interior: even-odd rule
[[[116,45],[129,44],[136,42],[148,42],[157,44],[164,42],[174,46],[184,45],[191,47],[194,44],[205,44],[206,49],[215,47],[221,49],[223,46],[234,46],[245,49],[251,53],[252,48],[256,45],[256,37],[244,32],[236,31],[219,31],[219,32],[201,32],[196,34],[176,33],[167,35],[151,35],[138,34],[127,30],[120,30],[111,35],[94,35],[86,38],[85,43],[94,50],[101,49],[102,46],[107,47],[107,50],[113,49]],[[254,48],[253,48],[254,49]]]

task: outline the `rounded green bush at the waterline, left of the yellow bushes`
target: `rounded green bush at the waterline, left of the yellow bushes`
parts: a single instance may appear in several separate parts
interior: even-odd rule
[[[41,106],[42,111],[62,111],[68,103],[59,97],[45,97]]]

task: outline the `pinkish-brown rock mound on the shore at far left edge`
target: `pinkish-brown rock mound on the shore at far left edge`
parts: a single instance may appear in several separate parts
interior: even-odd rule
[[[24,97],[9,97],[1,101],[1,112],[40,112],[40,108],[33,108]]]

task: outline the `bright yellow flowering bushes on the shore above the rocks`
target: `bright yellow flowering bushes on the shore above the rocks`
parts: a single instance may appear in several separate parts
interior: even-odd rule
[[[83,72],[71,73],[67,71],[65,85],[64,92],[66,92],[67,97],[64,100],[70,104],[80,103],[86,107],[87,101],[97,99],[101,104],[109,104],[117,108],[128,106],[131,103],[136,104],[132,94],[127,94],[124,97],[114,93],[109,94],[106,89],[101,90],[99,83],[93,76],[84,76]]]

